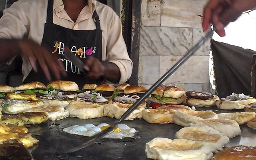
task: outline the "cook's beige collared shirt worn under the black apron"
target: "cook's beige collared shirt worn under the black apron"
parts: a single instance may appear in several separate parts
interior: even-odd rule
[[[47,5],[48,0],[19,0],[12,4],[4,10],[0,19],[0,38],[28,38],[41,44]],[[64,10],[62,0],[54,0],[53,9],[53,23],[73,30],[96,29],[92,19],[92,13],[96,10],[102,29],[102,60],[118,66],[121,73],[120,83],[130,78],[133,64],[122,37],[120,18],[112,8],[96,0],[88,0],[88,5],[82,9],[76,22],[73,22]],[[23,80],[31,70],[30,62],[23,59]]]

